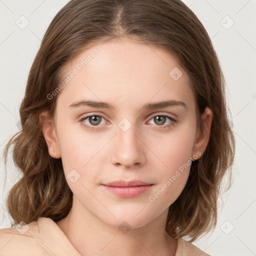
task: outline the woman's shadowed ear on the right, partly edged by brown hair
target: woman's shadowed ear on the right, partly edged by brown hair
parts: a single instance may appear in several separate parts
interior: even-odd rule
[[[212,111],[210,110],[209,107],[205,107],[204,113],[201,115],[201,120],[202,129],[198,127],[193,146],[193,154],[195,154],[197,151],[200,152],[200,155],[197,157],[197,159],[199,159],[203,155],[210,137]]]

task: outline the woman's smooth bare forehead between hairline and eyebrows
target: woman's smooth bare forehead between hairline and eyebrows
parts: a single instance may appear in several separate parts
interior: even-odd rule
[[[86,98],[107,101],[116,108],[169,99],[194,107],[189,77],[175,57],[127,38],[85,49],[66,65],[66,76],[58,98],[58,104],[66,106]]]

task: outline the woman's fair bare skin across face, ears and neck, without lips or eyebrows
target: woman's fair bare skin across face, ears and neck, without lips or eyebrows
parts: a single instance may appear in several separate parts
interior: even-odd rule
[[[155,201],[148,198],[196,152],[203,154],[212,112],[205,109],[201,115],[205,128],[196,129],[187,73],[163,49],[128,38],[87,48],[69,63],[66,74],[95,48],[99,50],[95,57],[61,89],[54,120],[46,112],[40,115],[49,154],[61,157],[73,192],[69,214],[56,223],[81,255],[175,255],[177,240],[164,228],[168,207],[183,190],[190,165]],[[177,80],[169,75],[174,67],[183,73]],[[115,108],[69,107],[81,99],[108,102]],[[187,109],[180,105],[142,109],[146,103],[170,99],[185,102]],[[93,126],[89,118],[79,121],[85,114],[103,118]],[[160,122],[151,114],[169,115],[178,122],[168,117]],[[123,118],[131,124],[126,131],[118,126]],[[75,182],[66,176],[72,169],[80,175]],[[102,183],[118,179],[154,185],[132,198],[103,189]],[[118,228],[123,221],[130,226],[126,233]]]

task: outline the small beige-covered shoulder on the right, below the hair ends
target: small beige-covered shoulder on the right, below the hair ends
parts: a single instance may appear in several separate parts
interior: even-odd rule
[[[199,249],[197,246],[182,238],[177,239],[177,251],[175,256],[210,256],[206,252]]]

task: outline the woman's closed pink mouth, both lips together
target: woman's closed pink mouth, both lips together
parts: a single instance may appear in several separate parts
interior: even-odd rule
[[[119,197],[131,198],[148,191],[153,183],[147,183],[141,180],[117,180],[110,183],[102,184],[104,189]]]

